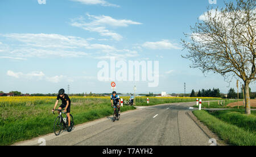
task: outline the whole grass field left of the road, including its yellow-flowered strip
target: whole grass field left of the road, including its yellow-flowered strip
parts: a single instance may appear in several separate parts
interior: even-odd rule
[[[123,97],[129,100],[129,97]],[[172,102],[196,101],[196,98],[137,97],[136,105],[158,105]],[[203,98],[218,100],[218,98]],[[9,145],[40,135],[53,133],[56,114],[51,110],[56,97],[0,97],[0,145]],[[122,111],[133,110],[123,106]],[[75,125],[113,114],[110,97],[71,97],[71,114]]]

